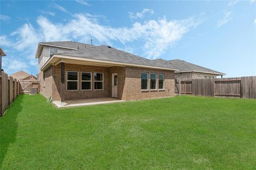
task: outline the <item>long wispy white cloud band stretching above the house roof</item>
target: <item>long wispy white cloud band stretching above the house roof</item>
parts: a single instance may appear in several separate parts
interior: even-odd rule
[[[35,59],[37,44],[42,41],[72,39],[89,43],[90,39],[93,38],[100,44],[108,45],[117,41],[123,44],[123,49],[130,53],[134,52],[134,46],[132,48],[131,43],[140,43],[140,46],[136,48],[136,50],[142,50],[140,55],[147,58],[157,58],[167,48],[180,40],[186,32],[202,22],[196,17],[184,20],[159,18],[141,23],[134,22],[130,27],[110,27],[100,24],[97,17],[93,15],[75,14],[72,17],[73,19],[65,23],[57,23],[39,16],[37,29],[35,29],[37,25],[33,27],[30,23],[26,23],[11,34],[15,38],[14,41],[8,40],[6,36],[1,36],[1,43],[4,42],[5,47],[14,47],[18,50],[18,52],[13,52],[18,54],[17,56],[9,57],[9,59],[12,58],[13,63],[8,62],[5,66],[8,73],[21,69],[26,70],[31,66],[35,67],[37,65]]]

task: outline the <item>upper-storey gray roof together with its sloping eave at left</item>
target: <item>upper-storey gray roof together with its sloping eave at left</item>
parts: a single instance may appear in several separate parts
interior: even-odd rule
[[[60,47],[60,48],[68,48],[68,49],[85,49],[85,48],[92,47],[92,45],[90,45],[90,44],[77,43],[74,41],[42,42],[42,43],[38,43],[37,50],[36,50],[36,58],[39,57],[44,45]]]

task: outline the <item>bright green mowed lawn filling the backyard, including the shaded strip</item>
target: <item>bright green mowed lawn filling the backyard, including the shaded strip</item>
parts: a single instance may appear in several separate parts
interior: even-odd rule
[[[20,95],[2,169],[255,169],[256,100],[173,97],[58,109]]]

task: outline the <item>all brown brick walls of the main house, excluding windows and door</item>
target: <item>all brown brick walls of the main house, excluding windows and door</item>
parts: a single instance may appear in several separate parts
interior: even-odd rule
[[[61,66],[53,65],[46,71],[39,73],[39,80],[41,80],[41,94],[46,98],[52,96],[53,100],[61,100]],[[81,72],[101,72],[103,73],[103,90],[81,90],[81,79],[78,80],[78,90],[68,91],[65,89],[65,100],[85,99],[85,98],[103,98],[111,97],[112,88],[112,73],[117,73],[117,98],[121,100],[137,100],[148,98],[161,98],[174,96],[174,71],[145,69],[139,67],[102,67],[79,64],[65,64],[65,87],[67,71]],[[165,75],[164,90],[141,90],[140,76],[141,72],[147,73],[161,73]],[[43,75],[44,74],[44,75]],[[150,78],[149,78],[150,81]],[[44,86],[45,84],[45,86]],[[93,80],[92,80],[93,84]]]

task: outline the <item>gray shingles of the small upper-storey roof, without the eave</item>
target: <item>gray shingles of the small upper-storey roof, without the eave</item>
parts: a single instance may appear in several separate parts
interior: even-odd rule
[[[85,49],[92,47],[90,44],[77,43],[74,41],[55,41],[55,42],[42,42],[42,44],[55,45],[61,47]]]

